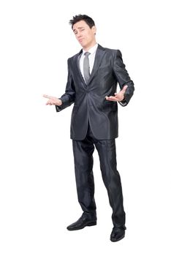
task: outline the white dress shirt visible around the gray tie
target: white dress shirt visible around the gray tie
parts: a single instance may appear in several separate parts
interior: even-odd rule
[[[94,59],[95,59],[95,55],[96,55],[96,49],[98,48],[98,44],[96,43],[96,45],[94,45],[93,47],[91,47],[88,51],[88,53],[91,53],[89,56],[88,56],[88,59],[89,59],[89,64],[90,64],[90,74],[92,72],[92,69],[94,67]],[[83,73],[83,61],[84,61],[84,58],[85,58],[85,55],[84,53],[86,53],[86,50],[83,50],[83,53],[82,55],[80,56],[80,72],[81,74],[83,75],[83,78],[84,78],[84,73]]]

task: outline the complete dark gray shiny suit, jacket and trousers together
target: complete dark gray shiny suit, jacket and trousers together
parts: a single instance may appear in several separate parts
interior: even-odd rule
[[[105,96],[114,95],[117,83],[120,88],[127,85],[125,99],[129,103],[134,83],[129,78],[120,50],[102,48],[98,45],[91,77],[86,85],[80,72],[80,53],[68,59],[68,80],[59,112],[75,103],[71,118],[71,138],[75,158],[77,195],[83,211],[96,214],[94,201],[93,152],[99,153],[100,168],[105,187],[113,208],[113,225],[124,227],[125,213],[121,180],[116,168],[115,138],[118,137],[118,103]]]

